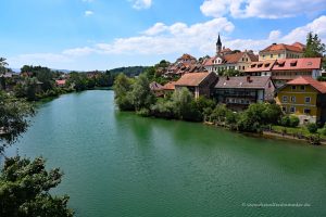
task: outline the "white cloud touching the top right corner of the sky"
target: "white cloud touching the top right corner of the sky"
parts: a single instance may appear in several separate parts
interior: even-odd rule
[[[280,18],[316,14],[326,10],[325,0],[204,0],[200,7],[206,16]]]

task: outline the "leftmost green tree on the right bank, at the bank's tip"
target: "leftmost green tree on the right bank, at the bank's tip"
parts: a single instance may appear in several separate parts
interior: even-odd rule
[[[120,74],[113,86],[115,92],[115,103],[122,111],[133,111],[135,106],[131,102],[130,91],[133,90],[133,80],[124,74]]]

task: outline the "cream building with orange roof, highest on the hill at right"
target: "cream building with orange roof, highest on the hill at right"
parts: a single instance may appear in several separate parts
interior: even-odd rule
[[[293,44],[273,43],[259,52],[259,60],[298,59],[303,58],[305,46],[300,42]]]

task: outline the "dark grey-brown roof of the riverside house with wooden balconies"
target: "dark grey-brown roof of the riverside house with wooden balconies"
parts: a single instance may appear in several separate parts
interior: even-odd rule
[[[220,77],[215,88],[265,89],[268,81],[269,76]]]

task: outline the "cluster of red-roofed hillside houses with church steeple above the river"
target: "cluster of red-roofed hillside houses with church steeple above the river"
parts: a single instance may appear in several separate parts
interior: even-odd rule
[[[214,56],[199,60],[183,54],[160,74],[171,80],[153,81],[156,97],[187,88],[195,98],[212,98],[233,111],[250,104],[276,102],[286,114],[296,115],[300,124],[326,122],[326,82],[322,58],[304,58],[305,46],[273,43],[255,54],[252,50],[225,48],[218,35]]]

